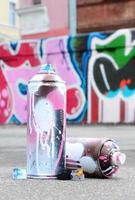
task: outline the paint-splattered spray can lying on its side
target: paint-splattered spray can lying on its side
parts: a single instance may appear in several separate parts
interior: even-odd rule
[[[66,168],[82,167],[86,177],[111,178],[125,159],[125,154],[111,139],[67,138]]]

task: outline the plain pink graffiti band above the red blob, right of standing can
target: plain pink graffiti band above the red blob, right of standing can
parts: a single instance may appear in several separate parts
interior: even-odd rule
[[[47,52],[45,62],[54,66],[60,77],[65,80],[66,85],[80,84],[80,78],[72,66],[66,49],[66,40],[49,39],[45,41],[44,45],[44,51]]]

